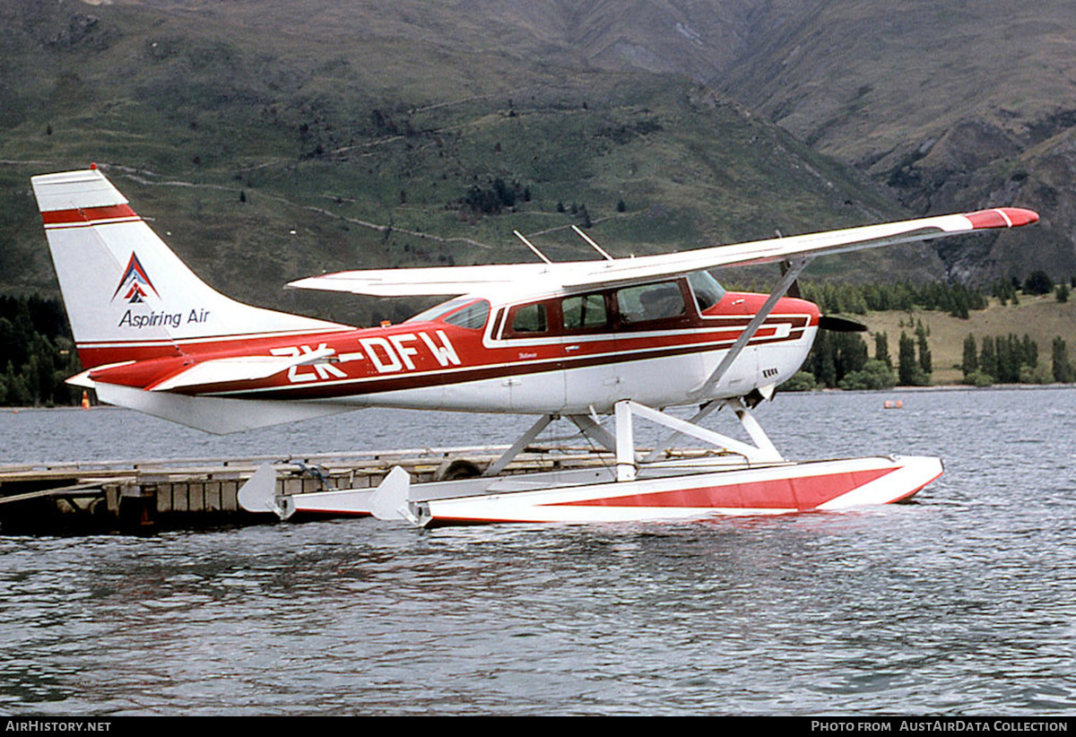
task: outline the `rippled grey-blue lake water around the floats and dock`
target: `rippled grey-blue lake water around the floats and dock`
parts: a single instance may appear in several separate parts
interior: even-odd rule
[[[911,505],[692,524],[0,537],[0,712],[1076,713],[1076,389],[779,395],[759,416],[790,457],[939,455],[946,473]],[[3,412],[0,460],[527,424],[371,410],[215,438]]]

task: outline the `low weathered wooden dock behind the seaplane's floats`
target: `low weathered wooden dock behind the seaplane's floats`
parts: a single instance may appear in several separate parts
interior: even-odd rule
[[[0,465],[0,534],[153,534],[275,522],[239,507],[243,483],[261,466],[280,494],[377,486],[394,466],[415,483],[477,476],[507,448],[425,448],[249,458],[182,458]],[[691,453],[690,451],[688,453]],[[505,470],[521,473],[611,465],[590,448],[528,448]]]

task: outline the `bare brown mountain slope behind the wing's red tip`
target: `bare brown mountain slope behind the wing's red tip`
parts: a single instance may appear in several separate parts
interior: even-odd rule
[[[1036,231],[943,246],[950,275],[1076,273],[1071,3],[817,3],[761,41],[723,89],[915,212],[1042,211]]]

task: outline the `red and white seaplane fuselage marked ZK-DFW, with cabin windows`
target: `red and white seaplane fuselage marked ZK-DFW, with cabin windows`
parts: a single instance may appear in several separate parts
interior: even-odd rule
[[[620,399],[652,406],[745,396],[789,379],[818,328],[811,302],[783,298],[706,396],[693,395],[765,295],[704,294],[698,279],[502,301],[461,298],[398,325],[227,336],[160,345],[144,357],[93,349],[95,382],[183,395],[481,412],[608,412]],[[136,329],[132,327],[132,329]],[[86,350],[86,349],[83,349]],[[192,364],[230,356],[291,357],[257,381],[173,386]],[[311,360],[303,362],[303,356]],[[327,357],[315,357],[327,356]]]

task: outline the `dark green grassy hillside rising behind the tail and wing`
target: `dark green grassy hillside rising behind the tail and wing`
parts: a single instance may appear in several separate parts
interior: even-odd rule
[[[585,257],[568,226],[586,219],[629,254],[904,215],[682,75],[589,66],[543,41],[548,25],[473,10],[5,3],[0,289],[55,288],[28,179],[90,161],[214,286],[360,323],[414,306],[280,287],[323,270],[529,259],[513,228],[551,257]],[[467,204],[498,180],[514,204]],[[925,279],[939,263],[923,253],[817,273],[875,273],[882,258]]]

